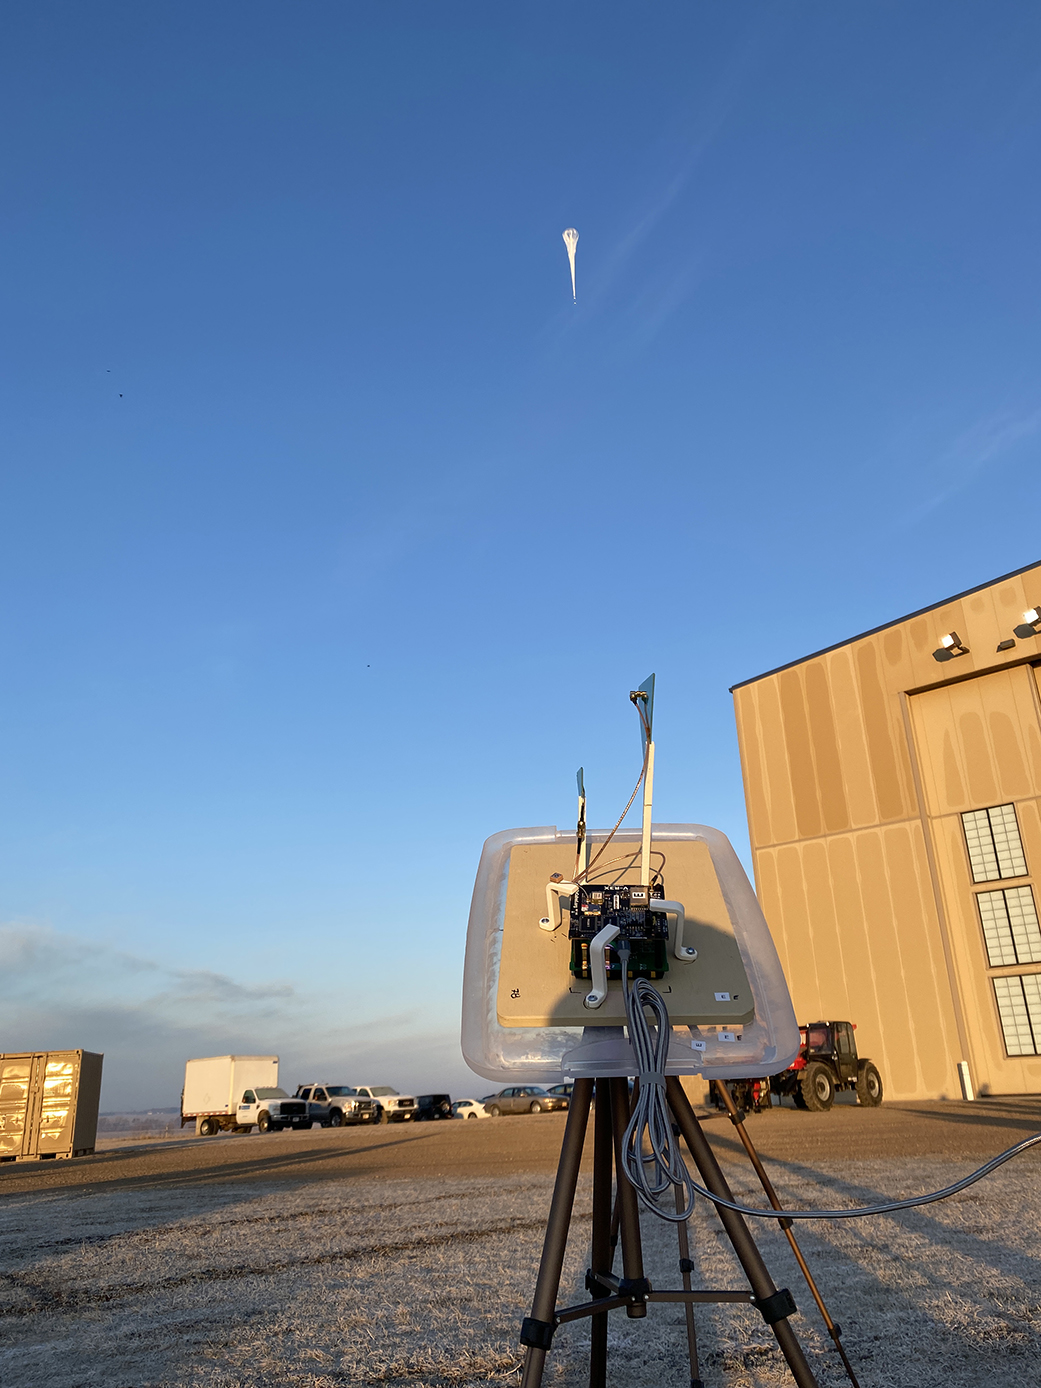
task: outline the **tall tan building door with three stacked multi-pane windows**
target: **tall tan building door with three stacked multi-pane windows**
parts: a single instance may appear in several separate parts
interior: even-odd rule
[[[909,700],[973,1078],[1041,1091],[1041,702],[1031,666]]]

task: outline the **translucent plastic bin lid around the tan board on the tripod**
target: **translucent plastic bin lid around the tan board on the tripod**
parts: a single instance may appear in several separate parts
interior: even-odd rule
[[[799,1048],[795,1013],[766,920],[730,841],[718,829],[704,824],[655,824],[652,836],[654,848],[663,852],[666,859],[669,844],[704,844],[708,849],[715,880],[706,883],[711,892],[704,894],[712,895],[718,904],[713,908],[716,916],[722,899],[730,949],[733,951],[736,944],[740,951],[740,963],[744,965],[754,1001],[754,1016],[743,1023],[675,1024],[668,1073],[701,1074],[709,1080],[723,1080],[756,1078],[787,1069]],[[591,851],[595,852],[607,834],[593,833],[589,837]],[[627,849],[633,856],[638,844],[638,830],[620,830],[612,840],[612,849],[618,845],[623,854]],[[558,845],[562,852],[569,849],[573,861],[575,834],[558,833],[552,826],[508,829],[493,834],[484,844],[466,930],[462,994],[464,1059],[477,1074],[498,1081],[518,1078],[552,1084],[564,1077],[636,1074],[637,1066],[629,1040],[625,1029],[616,1024],[616,1017],[612,1017],[611,1024],[604,1024],[607,1017],[597,1024],[593,1019],[598,1013],[589,1013],[590,1020],[576,1026],[502,1024],[500,970],[504,934],[509,936],[507,951],[512,952],[514,958],[518,956],[518,951],[534,955],[544,949],[545,942],[532,913],[525,911],[523,915],[518,915],[515,897],[511,898],[511,911],[507,911],[511,858],[516,849],[523,852],[530,845]],[[702,858],[705,848],[697,849]],[[666,895],[669,895],[668,886]],[[683,905],[687,920],[693,922],[697,930],[702,904],[687,899]],[[705,911],[705,915],[709,912]],[[566,937],[566,931],[561,934],[562,938]],[[712,934],[719,937],[719,929],[712,930]],[[684,938],[697,936],[688,934]],[[684,977],[684,970],[700,969],[702,970],[700,981],[711,984],[712,980],[705,970],[711,972],[716,955],[711,949],[702,949],[701,954],[702,958],[694,963],[673,965],[675,977],[680,980]],[[612,987],[619,985],[612,984]],[[661,991],[669,1004],[668,990]],[[716,994],[716,997],[729,995]],[[679,999],[676,1006],[679,1008],[676,1013],[673,1006],[669,1008],[670,1016],[684,1015]]]

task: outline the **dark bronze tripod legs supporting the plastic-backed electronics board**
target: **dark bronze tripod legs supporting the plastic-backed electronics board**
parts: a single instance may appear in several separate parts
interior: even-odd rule
[[[595,1081],[595,1116],[593,1127],[593,1242],[590,1269],[586,1273],[586,1289],[590,1301],[576,1306],[558,1309],[557,1294],[561,1285],[561,1270],[568,1242],[575,1191],[579,1181],[582,1148],[586,1140],[590,1105],[593,1102],[593,1080],[576,1080],[572,1092],[568,1124],[564,1130],[561,1160],[557,1167],[550,1217],[545,1224],[543,1259],[534,1287],[532,1314],[520,1327],[520,1344],[525,1345],[525,1367],[522,1388],[540,1388],[545,1355],[552,1345],[558,1326],[572,1320],[591,1319],[590,1327],[590,1388],[607,1385],[607,1337],[608,1313],[625,1310],[630,1320],[647,1316],[650,1302],[680,1302],[687,1307],[687,1345],[690,1351],[691,1388],[702,1388],[697,1338],[691,1307],[695,1303],[731,1302],[755,1306],[773,1331],[784,1355],[791,1376],[798,1388],[818,1388],[818,1381],[806,1363],[802,1346],[788,1324],[788,1316],[795,1312],[795,1302],[787,1288],[775,1287],[762,1255],[748,1231],[744,1219],[736,1212],[716,1206],[720,1223],[733,1245],[737,1259],[748,1278],[747,1291],[693,1291],[690,1273],[693,1264],[684,1251],[686,1226],[682,1226],[680,1251],[683,1289],[655,1291],[644,1277],[643,1248],[640,1242],[640,1210],[636,1190],[629,1183],[622,1163],[622,1142],[629,1123],[629,1084],[622,1078],[598,1078]],[[726,1177],[720,1170],[708,1138],[701,1130],[680,1081],[670,1076],[666,1080],[666,1094],[672,1116],[687,1144],[694,1165],[701,1173],[706,1190],[723,1199],[733,1199]],[[615,1174],[615,1210],[612,1216],[612,1171]],[[622,1276],[613,1273],[612,1224],[622,1238]]]

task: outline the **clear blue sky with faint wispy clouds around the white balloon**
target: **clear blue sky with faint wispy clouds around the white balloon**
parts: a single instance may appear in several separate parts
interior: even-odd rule
[[[8,8],[0,1048],[480,1090],[484,837],[1041,557],[1041,12]],[[565,226],[580,232],[570,300]]]

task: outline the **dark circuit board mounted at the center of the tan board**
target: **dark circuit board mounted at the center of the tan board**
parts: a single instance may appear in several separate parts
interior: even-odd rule
[[[662,901],[661,883],[650,887],[619,883],[589,883],[569,898],[570,972],[576,979],[590,979],[589,947],[605,926],[618,926],[619,940],[629,942],[630,979],[663,979],[669,967],[669,920],[661,911],[651,911],[650,899]],[[604,951],[608,979],[622,979],[622,960],[613,945]]]

